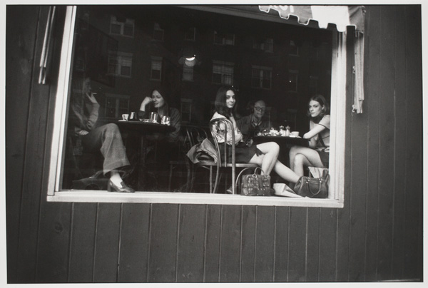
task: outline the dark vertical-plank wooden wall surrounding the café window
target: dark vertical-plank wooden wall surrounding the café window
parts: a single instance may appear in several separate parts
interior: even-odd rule
[[[349,94],[345,207],[330,209],[46,202],[48,7],[8,6],[8,282],[422,280],[421,9],[366,9],[364,113]]]

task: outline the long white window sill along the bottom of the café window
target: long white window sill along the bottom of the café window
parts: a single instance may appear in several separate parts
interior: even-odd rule
[[[135,192],[119,193],[100,190],[63,190],[47,197],[49,202],[113,202],[113,203],[171,203],[207,205],[258,205],[342,208],[335,199],[310,199],[288,197],[261,197],[225,194],[202,194],[185,192]]]

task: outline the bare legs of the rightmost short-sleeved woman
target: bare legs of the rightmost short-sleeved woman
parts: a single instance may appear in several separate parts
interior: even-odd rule
[[[293,146],[290,149],[290,168],[297,175],[304,175],[304,167],[323,167],[317,151],[302,146]]]

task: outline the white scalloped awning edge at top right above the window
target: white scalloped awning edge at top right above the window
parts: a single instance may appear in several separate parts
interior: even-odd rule
[[[259,5],[260,11],[269,13],[275,10],[283,19],[296,16],[300,24],[307,25],[310,20],[318,22],[320,28],[335,24],[337,31],[346,31],[347,26],[355,26],[355,31],[364,32],[364,6],[304,6],[304,5]]]

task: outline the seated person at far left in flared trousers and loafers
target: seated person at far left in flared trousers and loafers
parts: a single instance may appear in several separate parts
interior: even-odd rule
[[[81,138],[83,147],[103,155],[103,173],[109,175],[109,192],[135,192],[123,182],[119,168],[129,165],[121,131],[114,123],[98,122],[99,103],[91,93],[90,78],[73,78],[69,123],[73,133]]]

